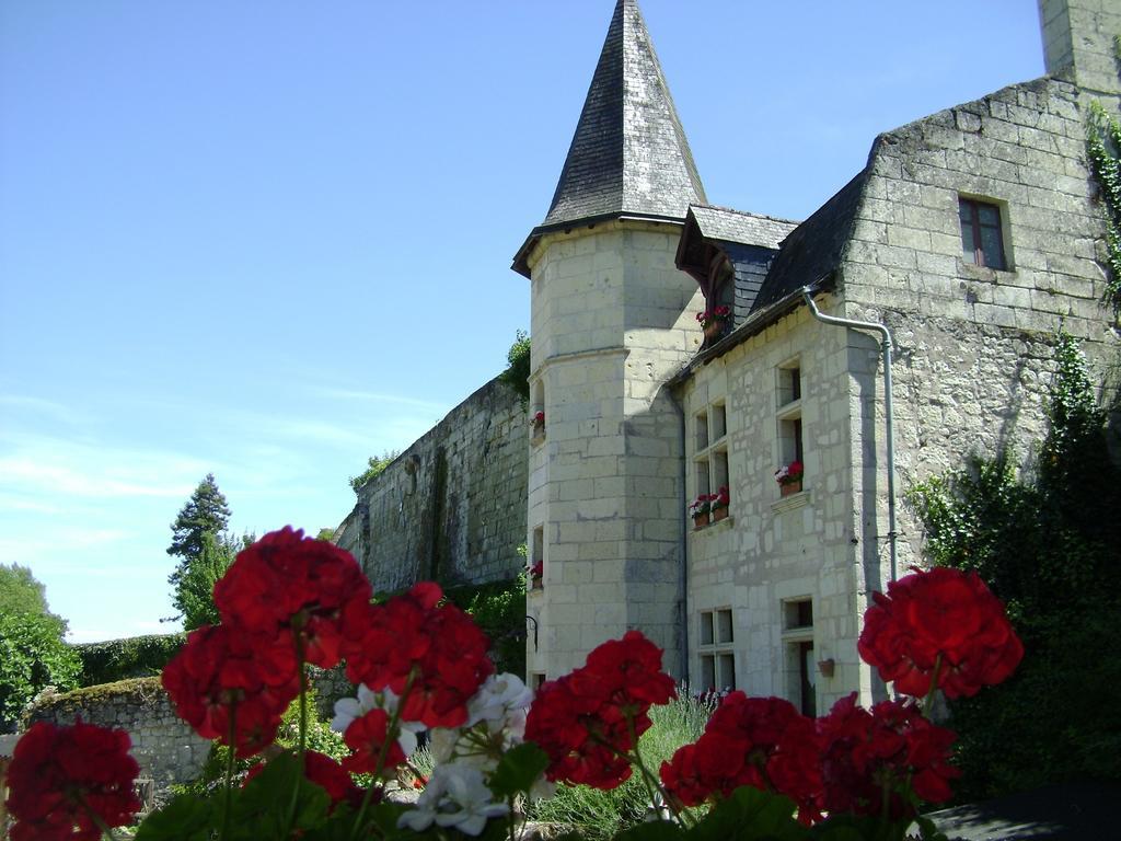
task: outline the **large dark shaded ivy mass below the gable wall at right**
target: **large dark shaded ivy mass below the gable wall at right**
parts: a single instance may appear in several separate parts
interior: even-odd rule
[[[1008,606],[1026,655],[1000,686],[951,703],[964,800],[1121,778],[1118,471],[1077,344],[1058,336],[1050,431],[1036,474],[1000,460],[910,495],[936,564],[976,570]]]

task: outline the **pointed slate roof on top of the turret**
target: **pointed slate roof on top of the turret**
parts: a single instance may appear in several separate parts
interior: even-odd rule
[[[706,204],[685,130],[637,0],[618,0],[540,233],[622,215],[683,220]]]

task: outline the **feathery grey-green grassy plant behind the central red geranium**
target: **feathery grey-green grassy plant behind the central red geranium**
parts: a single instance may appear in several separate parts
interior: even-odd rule
[[[652,724],[639,740],[642,761],[657,770],[679,747],[701,738],[714,709],[714,702],[693,697],[684,688],[676,701],[650,708]],[[609,791],[558,786],[552,798],[530,803],[527,812],[531,820],[572,826],[580,838],[596,841],[640,825],[649,808],[650,795],[636,775]]]

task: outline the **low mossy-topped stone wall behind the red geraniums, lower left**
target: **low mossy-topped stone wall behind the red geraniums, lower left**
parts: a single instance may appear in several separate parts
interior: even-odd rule
[[[211,742],[180,719],[158,677],[137,677],[75,692],[48,695],[31,710],[30,723],[49,721],[127,730],[140,776],[155,780],[156,789],[187,783],[198,776]]]

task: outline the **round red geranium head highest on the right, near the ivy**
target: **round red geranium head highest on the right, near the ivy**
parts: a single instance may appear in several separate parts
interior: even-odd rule
[[[921,697],[937,688],[946,697],[976,694],[1019,665],[1023,646],[1004,607],[975,572],[938,566],[916,571],[873,593],[858,649],[896,690]]]

